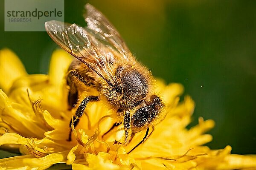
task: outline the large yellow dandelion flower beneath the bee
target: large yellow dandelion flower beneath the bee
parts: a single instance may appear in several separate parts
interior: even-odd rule
[[[0,51],[0,145],[22,154],[0,159],[1,169],[44,170],[57,163],[71,164],[73,170],[256,168],[254,155],[230,154],[230,146],[221,150],[203,146],[212,140],[204,133],[214,126],[213,120],[200,118],[198,125],[186,129],[195,103],[189,96],[179,101],[182,85],[161,80],[157,88],[167,116],[133,151],[145,131],[136,133],[127,146],[116,142],[122,138],[122,128],[106,133],[114,120],[102,117],[113,111],[102,101],[87,105],[87,115],[73,129],[73,140],[67,141],[74,113],[67,107],[64,77],[71,60],[69,54],[56,50],[48,75],[28,75],[12,51]]]

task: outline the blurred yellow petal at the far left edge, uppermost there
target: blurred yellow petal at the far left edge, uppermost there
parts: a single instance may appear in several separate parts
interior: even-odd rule
[[[3,91],[8,93],[12,82],[26,75],[23,64],[14,52],[7,48],[0,50],[0,88]]]

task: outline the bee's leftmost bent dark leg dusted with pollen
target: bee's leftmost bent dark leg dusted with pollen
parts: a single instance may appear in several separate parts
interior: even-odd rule
[[[76,127],[76,125],[79,122],[79,118],[83,115],[84,113],[84,109],[86,108],[86,105],[88,102],[93,102],[93,101],[98,101],[99,100],[99,96],[87,96],[86,98],[84,98],[84,100],[80,103],[79,107],[76,110],[76,115],[73,116],[73,125],[74,127]],[[72,119],[70,120],[70,128],[72,125]],[[71,133],[72,133],[72,129],[70,129],[70,133],[69,133],[69,138],[68,141],[71,141]]]

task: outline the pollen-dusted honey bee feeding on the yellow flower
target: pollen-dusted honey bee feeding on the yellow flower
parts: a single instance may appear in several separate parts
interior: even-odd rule
[[[104,99],[116,111],[116,124],[124,128],[122,144],[128,144],[134,133],[146,129],[141,144],[149,127],[154,128],[165,117],[165,105],[155,92],[154,78],[135,59],[108,19],[90,4],[85,9],[85,28],[56,20],[45,23],[52,40],[75,57],[67,76],[70,108],[83,91],[94,89],[99,94],[81,99],[73,125],[78,124],[88,102]],[[70,127],[71,124],[72,121]]]

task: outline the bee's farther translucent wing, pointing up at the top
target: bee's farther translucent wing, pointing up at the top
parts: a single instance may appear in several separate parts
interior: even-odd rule
[[[108,21],[108,19],[96,8],[90,4],[85,5],[87,13],[84,14],[84,19],[87,22],[85,28],[94,37],[104,42],[110,51],[116,51],[120,55],[116,57],[116,60],[120,60],[118,57],[122,57],[122,60],[127,62],[134,62],[134,57],[131,51],[125,44],[124,40],[120,36],[116,28]]]

